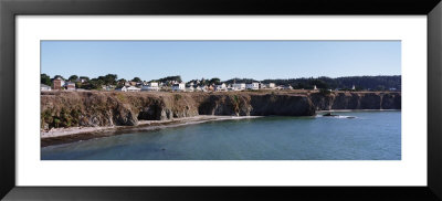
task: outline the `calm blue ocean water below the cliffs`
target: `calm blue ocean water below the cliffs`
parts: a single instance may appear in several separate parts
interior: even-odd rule
[[[41,149],[41,159],[401,159],[401,112],[339,112],[334,114],[340,116],[272,116],[130,133],[44,147]]]

